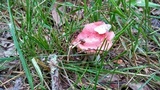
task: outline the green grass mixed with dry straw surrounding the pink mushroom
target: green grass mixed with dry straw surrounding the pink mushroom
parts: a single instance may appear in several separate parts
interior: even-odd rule
[[[90,6],[87,6],[87,0],[83,0],[83,4],[59,3],[55,0],[14,0],[14,2],[8,0],[7,4],[2,0],[0,13],[3,17],[0,19],[3,23],[11,24],[10,31],[14,44],[31,89],[47,89],[47,85],[50,85],[49,71],[45,70],[46,57],[50,54],[57,54],[63,63],[59,64],[62,81],[66,82],[65,70],[75,89],[111,88],[109,82],[113,82],[114,75],[125,77],[124,84],[143,82],[140,89],[145,85],[157,89],[160,87],[158,84],[160,38],[159,33],[152,29],[150,20],[159,17],[150,14],[154,7],[149,6],[149,0],[145,1],[143,11],[139,11],[137,6],[132,6],[131,2],[126,3],[126,0],[108,0],[108,2],[95,0],[89,2]],[[51,16],[55,3],[59,5],[57,10],[62,6],[67,10],[58,11],[60,17],[64,19],[62,26],[56,25]],[[76,15],[77,11],[82,10],[84,10],[82,14]],[[81,30],[86,23],[99,20],[112,25],[111,30],[116,34],[113,47],[102,54],[100,60],[92,60],[88,55],[73,50],[72,58],[67,63],[71,36]],[[38,68],[36,72],[32,58],[41,57],[44,58],[45,66],[37,61],[41,71]],[[0,60],[5,62],[10,59]],[[123,63],[116,63],[119,60]],[[39,73],[42,73],[43,79]],[[108,81],[101,84],[101,79],[110,75]],[[35,82],[37,80],[41,82],[39,77],[40,80],[45,80],[43,83],[47,83]]]

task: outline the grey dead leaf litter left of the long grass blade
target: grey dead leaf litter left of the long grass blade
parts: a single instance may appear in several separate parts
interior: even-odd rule
[[[17,52],[14,47],[12,36],[9,32],[9,27],[6,23],[0,22],[0,81],[1,85],[5,84],[5,87],[0,85],[1,90],[20,90],[24,89],[22,86],[21,73],[16,71],[17,66],[20,65],[19,60],[6,61],[2,58],[16,57]],[[18,74],[20,73],[20,74]],[[23,73],[23,72],[22,72]],[[15,75],[15,78],[9,78],[9,75]],[[2,83],[3,82],[3,83]],[[28,86],[27,86],[28,87]]]

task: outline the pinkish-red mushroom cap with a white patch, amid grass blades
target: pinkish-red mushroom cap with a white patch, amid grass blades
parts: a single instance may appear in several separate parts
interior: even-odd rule
[[[87,24],[82,32],[73,39],[72,44],[77,45],[78,49],[87,53],[109,50],[115,36],[114,32],[109,32],[110,28],[111,25],[102,21]]]

